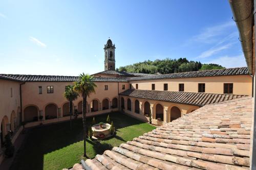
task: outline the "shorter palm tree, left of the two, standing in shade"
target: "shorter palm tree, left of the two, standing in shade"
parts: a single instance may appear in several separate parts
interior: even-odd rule
[[[78,93],[74,91],[74,86],[68,85],[65,88],[64,96],[69,101],[70,129],[72,129],[72,104],[77,99]]]

